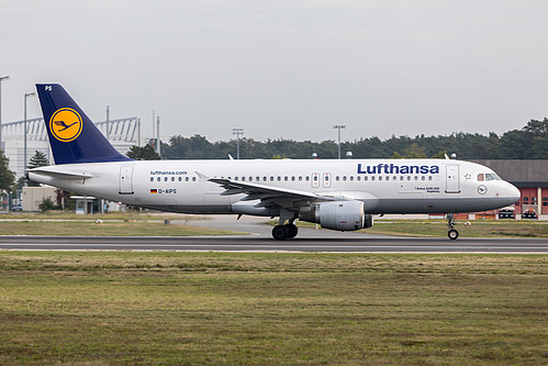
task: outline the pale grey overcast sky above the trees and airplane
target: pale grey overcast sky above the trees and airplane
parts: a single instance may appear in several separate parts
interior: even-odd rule
[[[2,122],[36,82],[94,121],[258,141],[502,134],[548,115],[543,0],[0,0]],[[27,117],[41,117],[37,98]]]

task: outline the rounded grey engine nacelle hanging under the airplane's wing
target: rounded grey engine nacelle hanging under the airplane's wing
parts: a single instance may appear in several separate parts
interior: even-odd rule
[[[299,220],[315,222],[325,229],[353,231],[371,228],[373,217],[366,214],[361,201],[321,202],[301,209]]]

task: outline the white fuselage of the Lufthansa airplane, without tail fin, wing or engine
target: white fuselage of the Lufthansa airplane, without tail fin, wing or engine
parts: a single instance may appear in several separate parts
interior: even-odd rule
[[[213,177],[358,200],[365,202],[367,213],[473,212],[502,208],[519,198],[517,188],[490,168],[449,159],[135,160],[47,169],[48,174],[31,170],[29,177],[81,195],[186,213],[272,215],[242,209],[246,196],[222,196],[225,189],[208,181]],[[301,202],[307,203],[313,202]]]

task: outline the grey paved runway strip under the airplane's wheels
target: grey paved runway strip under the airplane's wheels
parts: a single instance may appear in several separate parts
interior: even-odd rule
[[[9,251],[221,251],[329,253],[527,253],[548,254],[546,240],[298,237],[276,242],[255,235],[198,237],[1,236]]]

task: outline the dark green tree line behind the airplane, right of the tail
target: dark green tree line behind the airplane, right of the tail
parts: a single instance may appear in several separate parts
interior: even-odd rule
[[[155,141],[144,147],[133,146],[127,156],[136,159],[224,159],[236,157],[236,141],[210,142],[201,135],[175,135],[161,143],[161,157],[155,153]],[[354,158],[426,158],[457,154],[460,159],[546,159],[548,158],[548,119],[532,120],[521,130],[496,133],[454,133],[450,135],[394,136],[360,138],[340,144],[342,155],[351,152]],[[241,158],[337,158],[335,141],[311,142],[293,140],[241,138]]]

